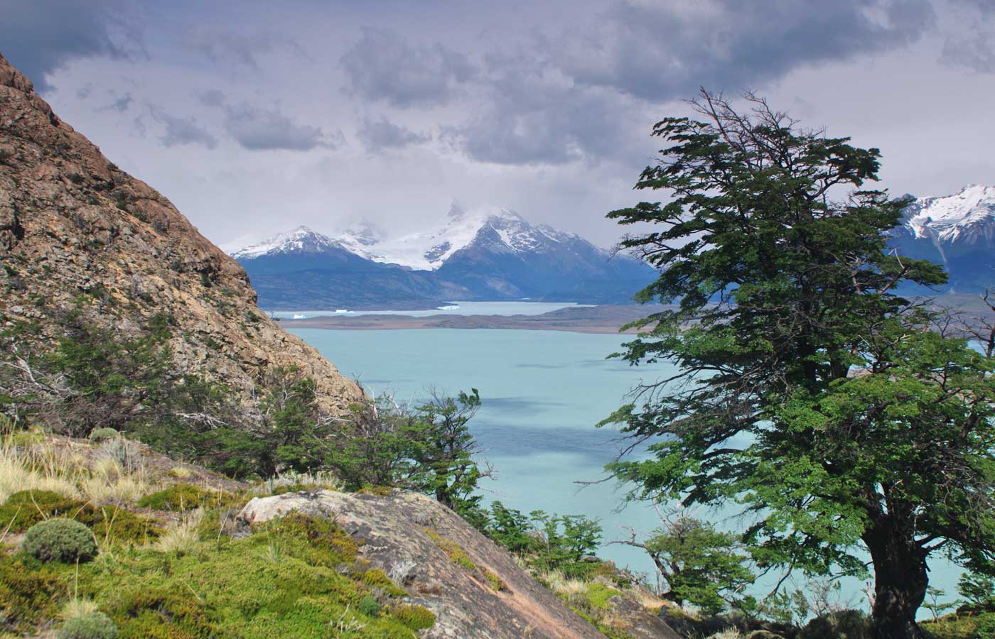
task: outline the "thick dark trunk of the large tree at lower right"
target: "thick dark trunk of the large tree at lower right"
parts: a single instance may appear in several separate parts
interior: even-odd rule
[[[925,553],[912,535],[905,535],[886,516],[864,536],[875,572],[875,601],[871,612],[875,639],[920,639],[926,635],[915,623],[925,598],[929,577]]]

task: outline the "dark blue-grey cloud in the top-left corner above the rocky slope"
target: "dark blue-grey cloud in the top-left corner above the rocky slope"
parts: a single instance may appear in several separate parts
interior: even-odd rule
[[[0,0],[0,53],[35,83],[77,58],[130,58],[139,30],[123,0]]]

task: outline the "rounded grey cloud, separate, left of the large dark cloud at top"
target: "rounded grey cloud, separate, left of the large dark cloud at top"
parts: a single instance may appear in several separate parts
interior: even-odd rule
[[[412,45],[386,29],[363,29],[339,62],[354,94],[395,106],[445,102],[474,76],[466,55],[438,43]]]

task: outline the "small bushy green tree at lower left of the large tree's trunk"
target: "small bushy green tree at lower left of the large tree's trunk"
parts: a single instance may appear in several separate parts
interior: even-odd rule
[[[695,604],[709,614],[745,601],[744,591],[753,583],[753,572],[746,565],[736,536],[721,531],[694,517],[679,514],[666,519],[645,541],[637,536],[618,542],[641,548],[653,559],[667,590],[661,597],[678,605]]]

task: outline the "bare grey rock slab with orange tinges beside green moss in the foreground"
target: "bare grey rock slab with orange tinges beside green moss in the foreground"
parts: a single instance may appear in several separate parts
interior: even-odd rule
[[[494,542],[423,495],[287,493],[253,499],[240,518],[260,524],[291,511],[334,518],[350,535],[365,540],[362,557],[436,614],[435,626],[424,637],[603,637]]]

